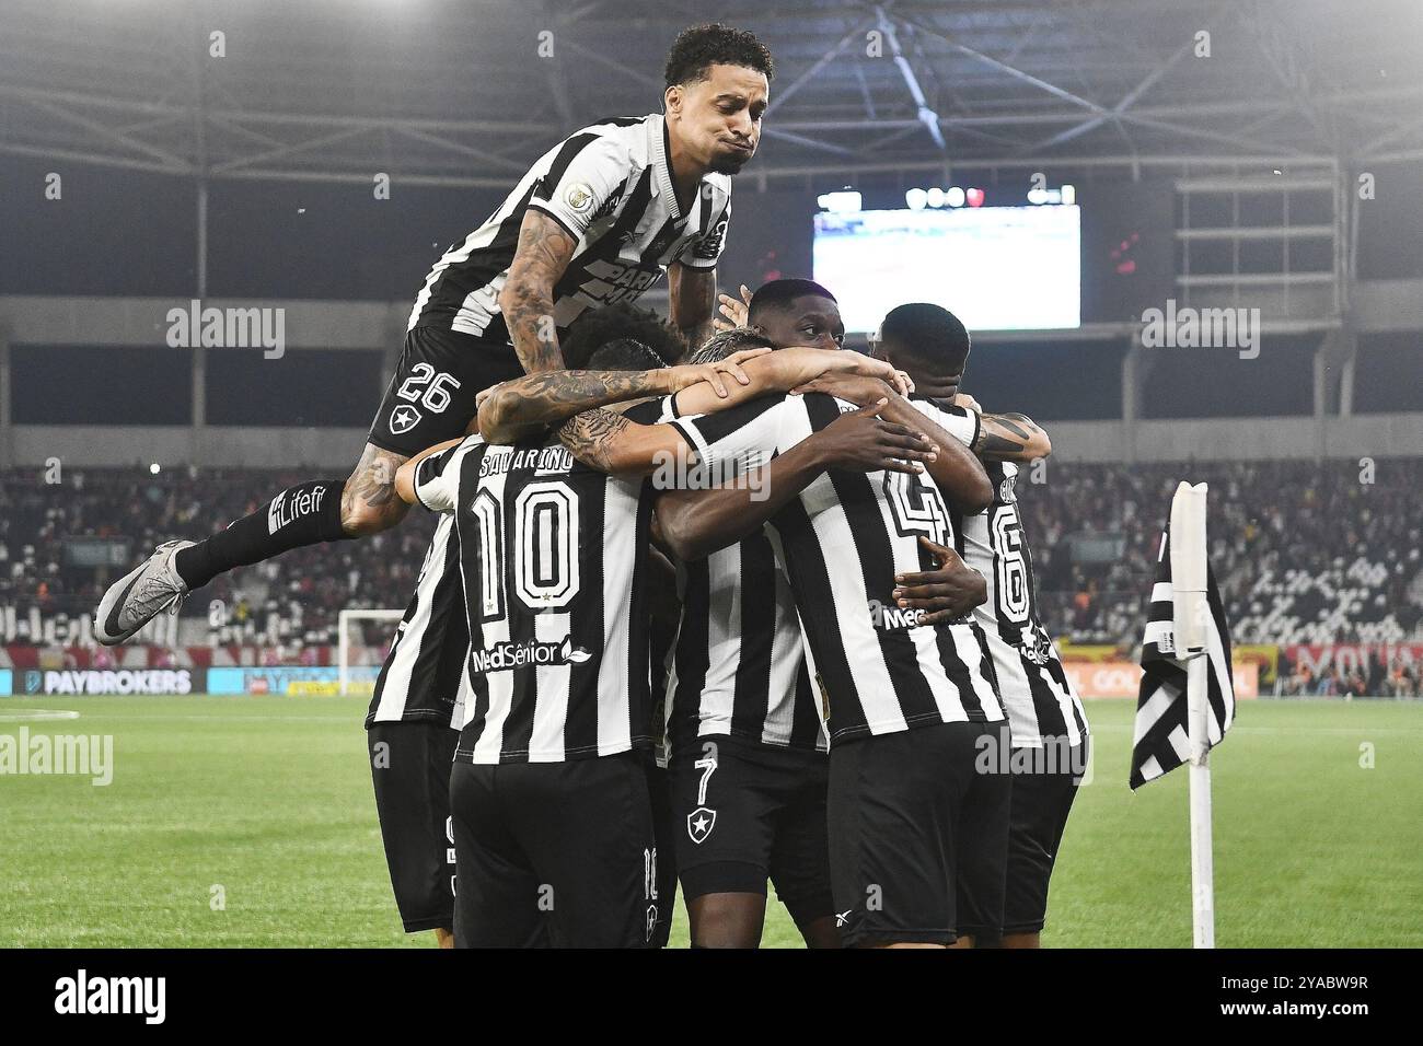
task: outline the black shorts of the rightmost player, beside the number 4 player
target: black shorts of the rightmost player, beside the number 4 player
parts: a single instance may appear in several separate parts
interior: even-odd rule
[[[1015,759],[1013,797],[1007,827],[1007,887],[1003,897],[1003,932],[1036,934],[1047,915],[1047,881],[1067,814],[1077,797],[1090,756],[1090,739],[1060,749],[1030,749],[1032,768]],[[1022,751],[1022,750],[1019,750]]]

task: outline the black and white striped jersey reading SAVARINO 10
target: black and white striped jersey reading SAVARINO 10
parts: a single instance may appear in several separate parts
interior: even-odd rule
[[[662,404],[628,414],[655,423]],[[588,468],[556,440],[471,435],[420,463],[416,494],[454,515],[460,542],[470,693],[455,759],[650,747],[650,482]]]

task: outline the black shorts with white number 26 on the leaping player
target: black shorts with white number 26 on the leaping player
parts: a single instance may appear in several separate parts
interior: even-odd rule
[[[444,327],[416,327],[370,423],[367,443],[414,457],[464,435],[481,389],[521,377],[514,346]]]

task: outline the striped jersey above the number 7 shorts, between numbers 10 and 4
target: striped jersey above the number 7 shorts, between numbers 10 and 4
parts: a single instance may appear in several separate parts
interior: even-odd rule
[[[667,754],[730,734],[783,749],[827,749],[801,656],[790,582],[764,534],[677,565],[682,618],[667,675]]]

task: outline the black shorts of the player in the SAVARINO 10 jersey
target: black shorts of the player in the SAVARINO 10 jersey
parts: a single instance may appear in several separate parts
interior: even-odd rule
[[[652,946],[656,841],[642,753],[455,760],[450,807],[455,948]]]

